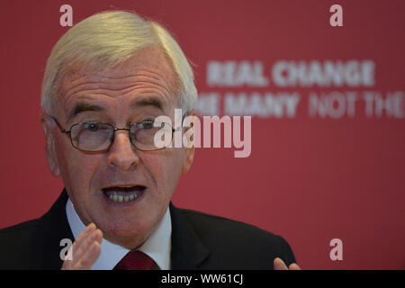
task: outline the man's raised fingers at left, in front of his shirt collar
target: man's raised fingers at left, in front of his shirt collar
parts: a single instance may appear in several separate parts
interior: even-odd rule
[[[89,224],[73,243],[71,260],[64,261],[62,270],[90,269],[100,256],[102,239],[103,232],[94,223]]]

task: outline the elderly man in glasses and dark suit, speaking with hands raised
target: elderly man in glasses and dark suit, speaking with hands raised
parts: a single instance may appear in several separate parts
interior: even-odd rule
[[[67,31],[41,98],[49,169],[65,189],[40,219],[0,231],[0,268],[298,268],[284,238],[170,202],[194,148],[157,147],[155,120],[195,114],[196,99],[161,25],[112,11]]]

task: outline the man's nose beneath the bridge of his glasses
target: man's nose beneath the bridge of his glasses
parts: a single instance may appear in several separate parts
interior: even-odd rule
[[[114,140],[107,156],[108,165],[127,171],[139,163],[138,150],[130,143],[127,130],[115,131]]]

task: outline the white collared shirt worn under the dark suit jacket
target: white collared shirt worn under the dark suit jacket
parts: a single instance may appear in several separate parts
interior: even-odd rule
[[[78,217],[70,198],[67,200],[66,214],[70,229],[76,239],[85,229],[85,224],[83,224],[80,217]],[[163,219],[157,224],[157,229],[155,229],[145,243],[137,250],[151,257],[161,270],[169,270],[171,236],[172,220],[170,218],[170,211],[167,208],[165,216],[163,216]],[[113,244],[103,238],[100,257],[95,261],[92,270],[112,270],[128,252],[130,252],[129,249]]]

